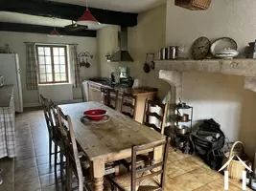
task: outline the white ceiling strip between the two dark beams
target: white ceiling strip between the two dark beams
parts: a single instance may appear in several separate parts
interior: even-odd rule
[[[50,17],[43,16],[34,16],[29,14],[22,14],[16,12],[8,12],[8,11],[0,11],[0,22],[8,22],[8,23],[23,23],[23,24],[31,24],[31,25],[41,25],[41,26],[53,26],[54,23],[56,27],[64,27],[66,25],[72,24],[71,20],[58,19],[55,21]],[[107,25],[101,24],[96,25],[90,28],[89,30],[100,30],[105,28]]]

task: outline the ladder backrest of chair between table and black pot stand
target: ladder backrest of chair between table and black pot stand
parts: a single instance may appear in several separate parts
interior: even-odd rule
[[[158,107],[162,115],[159,115],[156,112],[151,112],[151,107]],[[161,134],[164,134],[166,115],[167,115],[167,104],[163,104],[160,101],[152,101],[148,99],[146,100],[144,118],[143,118],[143,123],[146,126],[151,127],[152,129],[154,129],[155,131]],[[155,117],[160,121],[160,128],[157,127],[155,124],[150,123],[150,117]]]

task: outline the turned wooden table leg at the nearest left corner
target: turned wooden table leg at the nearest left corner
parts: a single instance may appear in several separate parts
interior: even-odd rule
[[[95,191],[104,190],[105,161],[97,159],[91,161],[91,170],[93,175],[93,187]]]

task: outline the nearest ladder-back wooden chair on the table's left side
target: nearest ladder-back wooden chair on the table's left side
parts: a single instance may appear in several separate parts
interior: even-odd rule
[[[66,186],[67,190],[72,189],[73,173],[77,180],[79,180],[79,191],[83,189],[83,186],[87,190],[91,190],[91,177],[89,172],[89,160],[85,153],[81,154],[81,146],[75,138],[75,133],[72,125],[71,118],[65,116],[58,106],[58,124],[60,131],[60,140],[63,144],[63,155],[66,158]],[[105,166],[105,175],[119,172],[119,163],[108,163]],[[85,179],[84,179],[85,178]]]

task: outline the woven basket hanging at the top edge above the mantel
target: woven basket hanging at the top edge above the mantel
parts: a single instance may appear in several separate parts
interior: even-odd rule
[[[188,10],[207,10],[212,0],[175,0],[175,6]]]

